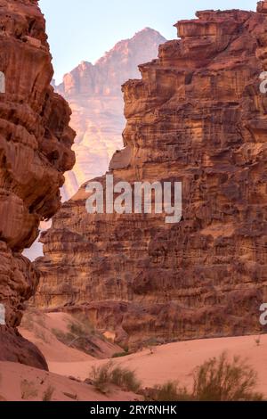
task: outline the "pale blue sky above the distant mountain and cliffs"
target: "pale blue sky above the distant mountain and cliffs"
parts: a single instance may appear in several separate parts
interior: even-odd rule
[[[177,37],[174,23],[192,19],[197,10],[255,11],[257,0],[40,0],[53,54],[54,78],[82,61],[96,62],[118,41],[144,28],[166,39]]]

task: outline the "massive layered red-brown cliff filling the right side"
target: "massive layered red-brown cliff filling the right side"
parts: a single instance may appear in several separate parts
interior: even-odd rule
[[[43,234],[36,304],[134,346],[259,333],[267,300],[267,14],[198,12],[125,94],[117,180],[182,181],[182,221],[89,215],[85,185]],[[104,178],[100,179],[104,184]]]

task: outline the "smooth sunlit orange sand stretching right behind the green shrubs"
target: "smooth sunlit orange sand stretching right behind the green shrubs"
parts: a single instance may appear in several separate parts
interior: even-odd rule
[[[255,336],[246,336],[172,343],[157,347],[152,355],[150,350],[146,349],[128,357],[114,359],[113,362],[135,371],[144,387],[152,387],[167,381],[179,381],[190,388],[193,370],[207,359],[220,357],[223,351],[226,351],[229,357],[240,356],[247,359],[247,363],[258,373],[257,390],[267,396],[267,335],[263,335],[260,346],[256,345],[255,338]],[[49,368],[57,374],[69,374],[85,379],[90,376],[92,366],[106,362],[102,360],[49,362]]]

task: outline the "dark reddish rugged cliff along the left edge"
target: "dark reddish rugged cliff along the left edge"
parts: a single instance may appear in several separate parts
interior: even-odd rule
[[[21,252],[60,208],[63,173],[75,162],[69,106],[50,86],[51,59],[37,2],[0,0],[0,360],[32,366],[46,364],[16,327],[39,275]]]

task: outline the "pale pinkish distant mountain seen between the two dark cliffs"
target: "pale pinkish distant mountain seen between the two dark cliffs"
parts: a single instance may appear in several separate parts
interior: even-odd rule
[[[146,28],[123,40],[94,65],[82,62],[66,74],[56,87],[72,110],[71,127],[77,131],[73,150],[77,162],[65,175],[62,196],[66,201],[88,179],[101,176],[109,161],[123,147],[125,127],[121,85],[140,77],[138,65],[158,56],[158,45],[166,42],[156,30]]]

